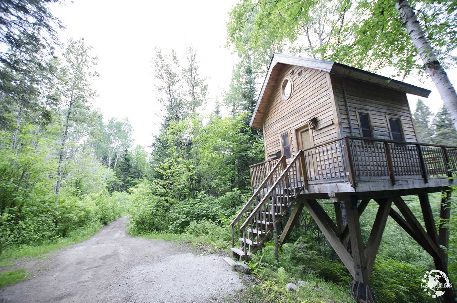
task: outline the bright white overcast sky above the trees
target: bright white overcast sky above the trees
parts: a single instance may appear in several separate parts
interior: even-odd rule
[[[236,54],[223,48],[225,22],[234,3],[74,0],[66,6],[54,5],[53,13],[67,27],[60,34],[62,42],[84,37],[93,47],[92,54],[99,58],[96,70],[100,77],[93,87],[100,97],[93,101],[94,107],[101,108],[105,119],[128,117],[135,144],[149,146],[161,123],[151,65],[154,47],[159,46],[165,53],[175,49],[182,55],[187,43],[197,50],[202,76],[208,77],[207,109],[211,111],[215,97],[228,88],[237,59]],[[448,75],[456,87],[457,70],[449,70]],[[418,77],[410,77],[405,82],[430,89],[432,93],[424,101],[436,113],[442,101],[430,79],[421,82]],[[409,95],[408,99],[414,111],[417,97]]]

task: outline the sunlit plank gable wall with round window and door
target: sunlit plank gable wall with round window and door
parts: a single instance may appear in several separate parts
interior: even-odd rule
[[[290,70],[293,74],[290,75]],[[301,76],[298,72],[301,71]],[[281,97],[281,83],[286,76],[292,77],[293,92],[289,100]],[[336,117],[333,114],[332,99],[326,73],[294,65],[286,65],[277,78],[271,93],[264,117],[264,137],[266,155],[281,148],[280,134],[288,132],[291,141],[292,157],[298,151],[295,129],[306,125],[309,119],[316,117],[317,124],[333,120],[334,124],[319,130],[313,130],[314,144],[319,144],[337,137]]]

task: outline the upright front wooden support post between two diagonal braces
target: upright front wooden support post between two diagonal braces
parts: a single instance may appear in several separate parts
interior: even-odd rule
[[[357,212],[357,197],[351,196],[351,199],[345,201],[347,213],[347,225],[351,236],[351,249],[354,268],[355,284],[353,295],[357,301],[370,302],[368,288],[367,263],[365,261],[365,248],[362,241],[360,229],[359,214]]]

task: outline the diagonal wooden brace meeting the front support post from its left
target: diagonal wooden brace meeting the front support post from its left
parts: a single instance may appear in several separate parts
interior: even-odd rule
[[[346,250],[343,243],[337,236],[337,227],[330,219],[329,215],[322,209],[316,200],[307,199],[303,202],[314,222],[318,225],[319,229],[324,234],[325,238],[329,241],[332,248],[335,250],[338,257],[340,257],[343,264],[346,266],[352,276],[355,276],[354,263],[351,254]]]

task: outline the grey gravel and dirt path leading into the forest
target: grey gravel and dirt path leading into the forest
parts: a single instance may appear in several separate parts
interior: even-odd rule
[[[215,255],[133,238],[119,218],[89,240],[22,264],[28,281],[0,291],[0,302],[213,302],[241,287]]]

